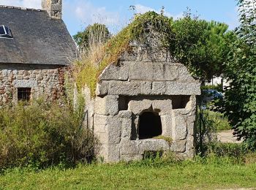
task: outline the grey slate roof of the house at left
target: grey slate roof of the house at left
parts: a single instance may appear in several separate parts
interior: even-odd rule
[[[75,58],[75,42],[63,20],[41,9],[0,6],[0,26],[8,26],[13,39],[0,38],[0,64],[68,65]]]

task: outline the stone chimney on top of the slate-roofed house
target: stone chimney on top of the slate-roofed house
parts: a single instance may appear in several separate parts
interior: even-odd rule
[[[45,9],[50,18],[61,19],[62,0],[42,0],[42,9]]]

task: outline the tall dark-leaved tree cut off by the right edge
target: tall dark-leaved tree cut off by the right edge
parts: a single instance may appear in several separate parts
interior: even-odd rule
[[[224,108],[238,139],[256,149],[256,2],[238,0],[238,7],[241,25],[225,67],[230,86]]]

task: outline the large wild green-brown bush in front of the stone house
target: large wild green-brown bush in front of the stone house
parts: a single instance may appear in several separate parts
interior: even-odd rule
[[[83,106],[35,101],[0,110],[0,168],[75,164],[94,156],[94,136],[82,125]]]

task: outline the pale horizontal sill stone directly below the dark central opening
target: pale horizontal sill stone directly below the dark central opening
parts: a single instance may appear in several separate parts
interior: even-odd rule
[[[145,151],[167,151],[169,148],[168,142],[162,139],[139,140],[140,154],[143,154]]]

